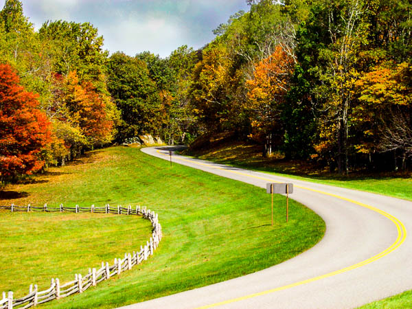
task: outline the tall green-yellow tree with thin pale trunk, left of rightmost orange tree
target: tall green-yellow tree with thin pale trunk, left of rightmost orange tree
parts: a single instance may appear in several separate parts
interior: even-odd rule
[[[318,136],[314,149],[339,172],[349,169],[350,115],[354,84],[359,78],[359,54],[367,43],[361,0],[319,1],[299,29],[297,54],[305,82],[301,93],[312,102]]]

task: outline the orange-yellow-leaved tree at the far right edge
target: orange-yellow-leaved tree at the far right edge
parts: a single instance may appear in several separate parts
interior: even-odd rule
[[[356,82],[358,105],[353,122],[358,128],[356,150],[367,155],[392,152],[406,168],[412,156],[412,65],[383,62]]]

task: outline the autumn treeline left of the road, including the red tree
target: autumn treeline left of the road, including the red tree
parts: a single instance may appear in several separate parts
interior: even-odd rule
[[[38,31],[19,0],[0,12],[0,185],[85,150],[146,133],[191,139],[185,110],[197,53],[162,59],[103,49],[90,23],[47,21]],[[34,93],[34,94],[33,94]]]

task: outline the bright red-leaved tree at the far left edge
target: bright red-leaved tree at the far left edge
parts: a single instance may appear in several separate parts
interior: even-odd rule
[[[37,95],[25,91],[10,65],[0,64],[0,180],[43,167],[39,154],[52,134],[37,107]]]

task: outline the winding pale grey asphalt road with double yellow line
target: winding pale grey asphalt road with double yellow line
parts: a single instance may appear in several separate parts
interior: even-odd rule
[[[142,151],[170,159],[168,147]],[[325,220],[325,237],[263,271],[125,308],[354,308],[412,289],[412,202],[179,155],[172,161],[258,187],[293,183],[291,197]]]

